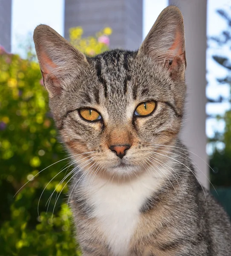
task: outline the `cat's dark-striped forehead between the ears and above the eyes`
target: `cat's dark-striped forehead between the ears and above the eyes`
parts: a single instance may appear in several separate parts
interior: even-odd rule
[[[75,86],[74,103],[77,101],[79,108],[103,106],[123,116],[127,109],[166,94],[164,72],[148,59],[138,58],[137,52],[116,49],[87,60],[90,70]]]

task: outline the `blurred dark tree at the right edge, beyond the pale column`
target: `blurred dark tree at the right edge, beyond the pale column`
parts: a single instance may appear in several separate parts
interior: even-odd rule
[[[227,49],[227,55],[213,55],[214,61],[227,70],[227,76],[217,79],[219,84],[231,85],[231,9],[228,11],[217,10],[219,15],[227,22],[227,28],[222,31],[221,35],[212,37],[211,41],[215,42],[219,47]],[[210,102],[216,102],[209,99]],[[225,98],[220,97],[218,102],[231,102],[230,94]],[[211,183],[216,187],[219,194],[219,201],[231,215],[231,110],[225,112],[224,116],[217,116],[218,119],[224,119],[224,133],[216,133],[214,138],[210,140],[214,143],[214,151],[210,157],[210,165],[214,169],[211,170]],[[221,142],[224,148],[220,150],[216,147],[216,143]],[[214,195],[216,195],[214,193]]]

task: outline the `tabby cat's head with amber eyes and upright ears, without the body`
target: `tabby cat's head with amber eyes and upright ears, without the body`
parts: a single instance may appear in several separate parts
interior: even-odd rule
[[[162,11],[137,52],[89,58],[46,25],[34,41],[61,139],[84,171],[132,175],[155,163],[157,145],[174,143],[186,90],[177,7]]]

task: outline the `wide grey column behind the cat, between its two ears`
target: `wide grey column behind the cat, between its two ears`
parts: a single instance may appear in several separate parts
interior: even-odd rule
[[[64,36],[82,26],[84,36],[106,26],[113,29],[110,48],[138,49],[142,41],[142,0],[65,0]]]

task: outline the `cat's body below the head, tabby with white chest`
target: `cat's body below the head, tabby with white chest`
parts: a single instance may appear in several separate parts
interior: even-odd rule
[[[176,147],[171,157],[193,170],[183,145]],[[165,181],[146,172],[124,184],[97,176],[79,183],[72,210],[84,256],[231,255],[226,212],[187,167],[165,164],[178,173],[160,167]]]

